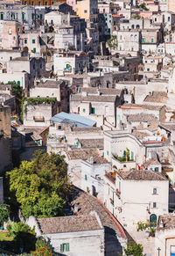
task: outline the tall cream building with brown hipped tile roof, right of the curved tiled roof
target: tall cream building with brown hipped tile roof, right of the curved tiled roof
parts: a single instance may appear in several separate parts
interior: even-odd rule
[[[168,194],[168,179],[160,172],[119,170],[104,178],[105,205],[130,231],[168,213]]]

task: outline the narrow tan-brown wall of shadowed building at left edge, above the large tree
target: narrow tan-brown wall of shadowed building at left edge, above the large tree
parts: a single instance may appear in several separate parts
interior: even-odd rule
[[[11,107],[0,106],[0,172],[11,168]]]

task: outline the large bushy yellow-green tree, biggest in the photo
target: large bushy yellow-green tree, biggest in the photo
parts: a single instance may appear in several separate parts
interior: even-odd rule
[[[25,218],[62,215],[70,190],[64,157],[38,150],[31,162],[23,161],[7,176]]]

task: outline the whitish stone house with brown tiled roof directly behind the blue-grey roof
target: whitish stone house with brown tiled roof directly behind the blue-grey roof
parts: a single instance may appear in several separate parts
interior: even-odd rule
[[[80,113],[103,128],[116,128],[116,106],[123,102],[123,91],[109,88],[83,88],[72,94],[70,111]]]

